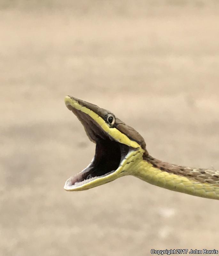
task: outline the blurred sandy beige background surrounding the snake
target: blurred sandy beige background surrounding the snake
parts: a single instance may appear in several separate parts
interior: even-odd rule
[[[111,110],[161,160],[219,168],[219,2],[0,1],[0,255],[219,249],[219,202],[123,177],[65,181],[95,144],[66,108]]]

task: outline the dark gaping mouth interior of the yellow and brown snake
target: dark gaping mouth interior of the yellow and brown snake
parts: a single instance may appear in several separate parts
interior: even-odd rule
[[[71,104],[66,104],[66,106],[68,109],[72,110],[75,116],[80,120],[89,139],[96,143],[95,156],[92,162],[82,172],[66,181],[64,188],[66,190],[73,190],[90,181],[115,172],[129,151],[134,148],[114,140],[113,137],[105,132],[88,114],[72,107]]]

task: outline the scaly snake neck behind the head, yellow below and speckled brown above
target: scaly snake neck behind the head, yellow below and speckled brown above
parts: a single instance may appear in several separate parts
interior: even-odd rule
[[[147,151],[138,160],[132,175],[162,188],[219,199],[219,171],[166,163],[150,156]]]

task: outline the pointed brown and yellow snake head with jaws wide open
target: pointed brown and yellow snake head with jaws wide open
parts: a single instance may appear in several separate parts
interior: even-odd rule
[[[80,120],[88,138],[96,143],[96,150],[91,163],[70,177],[64,188],[86,190],[131,174],[133,163],[140,161],[146,151],[143,137],[97,105],[72,96],[65,97],[65,104]]]

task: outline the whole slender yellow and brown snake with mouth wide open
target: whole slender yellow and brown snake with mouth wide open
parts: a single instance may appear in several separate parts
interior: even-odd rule
[[[72,96],[65,104],[96,143],[92,161],[66,181],[65,190],[87,190],[132,175],[161,188],[219,199],[219,171],[158,160],[148,153],[144,138],[111,111]]]

